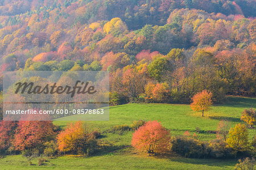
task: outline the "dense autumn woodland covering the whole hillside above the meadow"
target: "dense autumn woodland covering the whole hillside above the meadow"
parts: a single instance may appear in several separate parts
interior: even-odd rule
[[[1,1],[3,71],[108,70],[110,104],[255,95],[255,1]]]

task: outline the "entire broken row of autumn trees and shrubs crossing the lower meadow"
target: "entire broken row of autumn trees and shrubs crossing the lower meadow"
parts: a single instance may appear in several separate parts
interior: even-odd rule
[[[250,154],[255,150],[255,137],[249,141],[248,131],[243,124],[230,128],[228,121],[218,123],[217,138],[202,142],[197,135],[186,131],[181,137],[171,137],[170,131],[158,121],[134,121],[132,146],[149,154],[168,154],[174,151],[190,158],[231,158],[236,154]],[[132,127],[131,126],[131,127]],[[51,121],[1,121],[1,155],[54,156],[57,151],[64,154],[90,155],[100,146],[96,138],[98,131],[89,131],[81,121],[69,124],[64,130]],[[127,126],[129,129],[129,126]],[[230,129],[229,129],[230,128]],[[115,126],[114,131],[127,129]]]

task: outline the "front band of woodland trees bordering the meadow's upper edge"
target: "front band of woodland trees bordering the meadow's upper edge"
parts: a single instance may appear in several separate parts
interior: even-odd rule
[[[57,54],[39,54],[27,59],[23,70],[35,71],[110,71],[110,104],[128,101],[146,103],[189,103],[191,96],[205,89],[219,102],[226,94],[255,94],[255,45],[243,50],[172,49],[167,55],[149,50],[137,54],[134,61],[127,53],[105,54],[91,63],[82,59],[41,62]],[[213,49],[215,50],[215,49]],[[192,56],[189,57],[189,53]],[[214,53],[216,54],[214,56]],[[5,62],[15,66],[15,55]],[[132,62],[132,63],[131,63]]]

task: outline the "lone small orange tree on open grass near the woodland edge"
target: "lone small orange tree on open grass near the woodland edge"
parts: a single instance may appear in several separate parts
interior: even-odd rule
[[[212,105],[212,92],[203,90],[192,97],[191,109],[196,112],[202,112],[204,116],[204,111],[210,109]]]

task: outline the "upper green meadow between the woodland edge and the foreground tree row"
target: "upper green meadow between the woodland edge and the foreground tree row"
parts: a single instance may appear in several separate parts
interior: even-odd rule
[[[212,109],[201,117],[201,113],[195,113],[189,105],[185,104],[125,104],[110,107],[109,121],[86,121],[88,126],[105,131],[114,125],[130,125],[134,120],[157,120],[163,126],[171,130],[171,134],[179,135],[184,131],[196,132],[196,127],[202,133],[197,134],[200,139],[208,141],[215,138],[215,134],[207,133],[216,130],[220,120],[230,121],[232,126],[241,123],[243,109],[255,107],[256,99],[250,97],[228,97],[225,104],[213,105]],[[82,116],[82,115],[79,115]],[[63,128],[70,121],[68,117],[61,118],[54,123]],[[255,133],[249,129],[250,137]]]

